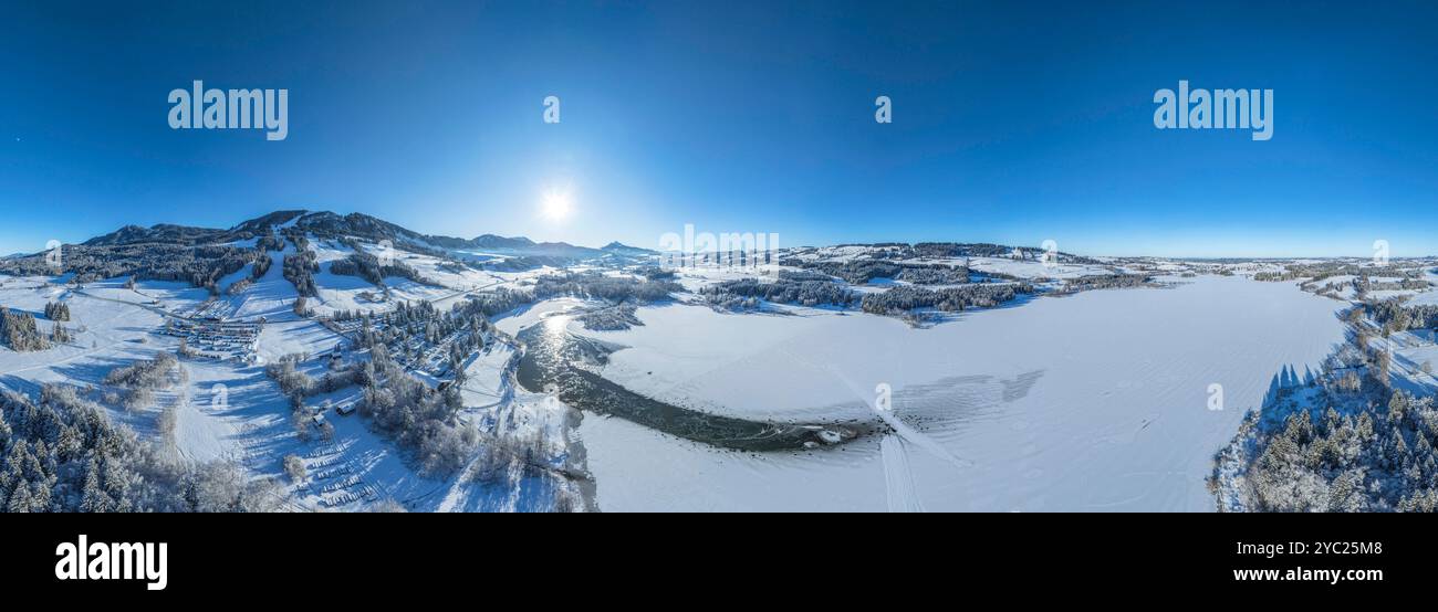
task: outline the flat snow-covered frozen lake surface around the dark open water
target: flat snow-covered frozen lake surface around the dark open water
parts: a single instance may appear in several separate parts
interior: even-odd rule
[[[1172,279],[1176,280],[1176,279]],[[605,510],[1212,510],[1212,454],[1281,371],[1343,339],[1340,303],[1288,283],[1182,279],[968,313],[929,329],[856,313],[638,310],[604,375],[661,399],[746,417],[864,417],[876,386],[917,435],[745,455],[621,419],[581,427]],[[1221,385],[1224,409],[1209,409]],[[925,448],[936,442],[953,457]],[[890,453],[892,455],[892,453]],[[894,465],[900,464],[900,465]],[[893,471],[912,470],[907,474]]]

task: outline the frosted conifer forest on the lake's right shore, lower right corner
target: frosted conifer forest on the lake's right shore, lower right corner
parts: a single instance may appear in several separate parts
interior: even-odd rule
[[[1435,511],[1438,408],[1391,386],[1392,358],[1355,333],[1322,371],[1276,385],[1215,457],[1219,510]],[[1431,368],[1431,365],[1428,366]]]

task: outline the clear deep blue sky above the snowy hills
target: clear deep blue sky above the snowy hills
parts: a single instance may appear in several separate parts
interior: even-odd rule
[[[118,4],[6,11],[0,253],[311,208],[591,246],[1438,254],[1432,3]],[[170,129],[196,79],[289,89],[288,139]],[[1179,79],[1273,89],[1273,139],[1155,129]]]

